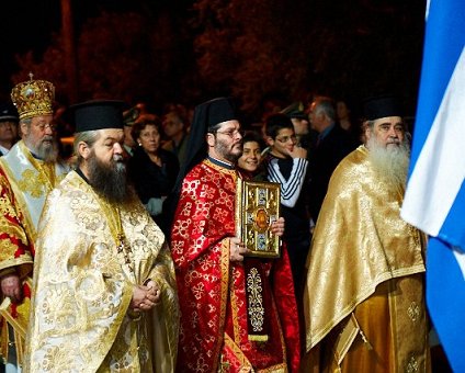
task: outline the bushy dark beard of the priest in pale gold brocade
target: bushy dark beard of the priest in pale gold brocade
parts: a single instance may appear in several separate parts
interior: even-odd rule
[[[134,200],[123,158],[112,159],[111,166],[107,166],[93,155],[89,158],[88,172],[89,184],[110,202],[126,203]]]

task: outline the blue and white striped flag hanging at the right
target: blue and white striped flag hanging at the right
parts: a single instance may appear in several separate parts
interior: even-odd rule
[[[410,177],[401,216],[429,236],[427,303],[455,372],[465,372],[465,1],[427,5]]]

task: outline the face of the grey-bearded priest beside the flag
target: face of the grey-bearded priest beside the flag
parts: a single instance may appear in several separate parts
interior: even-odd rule
[[[404,142],[405,128],[400,116],[387,116],[374,121],[373,128],[366,128],[366,139],[375,137],[385,148],[399,147]]]

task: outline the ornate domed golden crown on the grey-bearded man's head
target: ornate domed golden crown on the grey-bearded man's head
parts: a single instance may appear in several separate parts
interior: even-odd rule
[[[46,80],[30,80],[16,84],[11,91],[11,101],[18,109],[20,120],[53,114],[55,87]]]

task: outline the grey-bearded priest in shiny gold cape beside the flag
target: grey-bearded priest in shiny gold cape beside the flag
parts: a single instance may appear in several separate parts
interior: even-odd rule
[[[305,372],[428,372],[424,237],[400,217],[409,145],[397,101],[365,103],[307,259]]]

